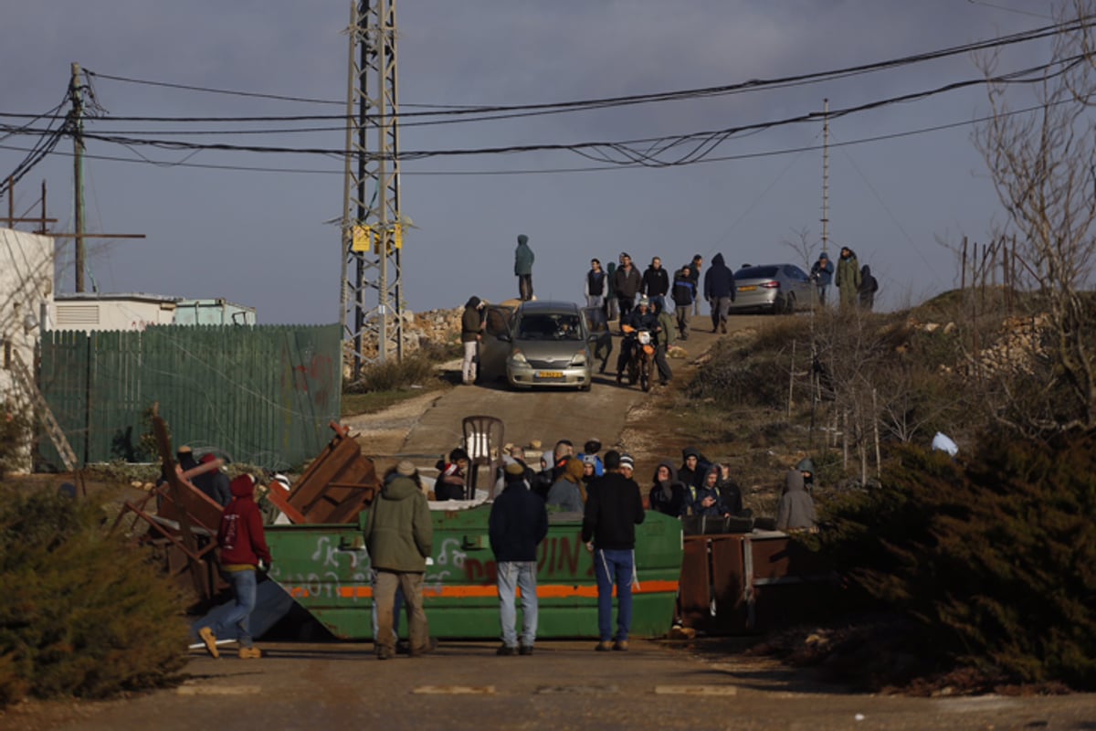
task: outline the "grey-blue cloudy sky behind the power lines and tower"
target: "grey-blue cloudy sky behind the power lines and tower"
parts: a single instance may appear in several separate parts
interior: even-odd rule
[[[70,65],[92,72],[89,133],[340,150],[338,121],[125,122],[112,117],[338,115],[345,110],[351,0],[52,0],[4,12],[0,114],[62,103]],[[843,69],[1052,22],[1046,0],[399,0],[401,111],[654,94]],[[1048,41],[1001,49],[998,71],[1044,64]],[[982,76],[970,54],[815,83],[747,89],[566,114],[409,124],[400,147],[453,151],[619,142],[760,125],[872,104]],[[112,79],[109,77],[116,77]],[[121,80],[127,79],[127,80]],[[180,87],[317,100],[295,102]],[[1016,105],[1034,103],[1017,90]],[[330,103],[321,103],[330,102]],[[62,108],[67,108],[62,107]],[[829,239],[879,281],[877,306],[916,304],[959,283],[963,237],[1004,222],[974,145],[984,85],[830,121]],[[0,175],[16,170],[41,122],[0,133]],[[321,128],[315,132],[267,132]],[[931,130],[931,128],[937,128]],[[201,135],[184,134],[202,132]],[[637,147],[636,145],[632,148]],[[618,165],[572,150],[423,156],[401,163],[404,307],[516,297],[525,233],[538,298],[580,300],[592,256],[627,251],[680,267],[722,253],[732,269],[796,263],[822,244],[818,119],[731,135],[699,162]],[[37,215],[47,185],[55,231],[71,231],[71,140],[14,191]],[[261,323],[341,321],[343,162],[336,155],[170,150],[91,139],[84,162],[88,283],[102,293],[224,297]],[[673,158],[673,153],[663,159]],[[0,199],[7,215],[8,199]],[[21,228],[27,229],[27,226]],[[807,256],[803,244],[809,249]],[[72,243],[58,248],[72,292]],[[367,301],[367,305],[374,305]]]

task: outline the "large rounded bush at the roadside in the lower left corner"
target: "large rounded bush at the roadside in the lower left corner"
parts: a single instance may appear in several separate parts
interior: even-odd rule
[[[0,484],[0,707],[156,687],[186,662],[179,590],[101,504]]]

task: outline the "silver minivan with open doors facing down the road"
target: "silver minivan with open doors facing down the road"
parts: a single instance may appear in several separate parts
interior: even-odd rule
[[[586,313],[574,302],[527,301],[506,312],[489,308],[480,344],[482,377],[502,375],[515,388],[533,386],[589,390],[592,341]]]

